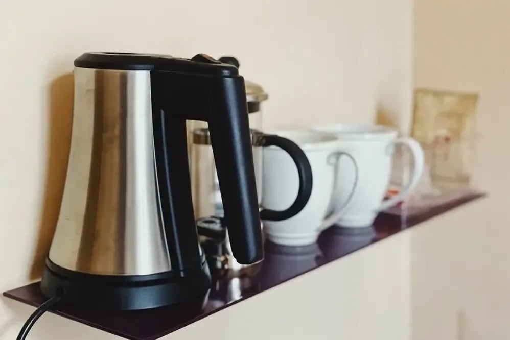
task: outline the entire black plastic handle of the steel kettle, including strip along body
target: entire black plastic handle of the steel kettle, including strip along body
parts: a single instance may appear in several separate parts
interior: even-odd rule
[[[180,62],[176,61],[177,66]],[[244,79],[236,68],[221,63],[195,62],[186,67],[182,72],[151,71],[161,216],[172,268],[182,275],[201,268],[188,167],[187,119],[208,123],[233,255],[242,264],[264,257]]]

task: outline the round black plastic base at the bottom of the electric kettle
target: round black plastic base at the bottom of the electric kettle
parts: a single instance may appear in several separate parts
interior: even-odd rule
[[[42,274],[42,294],[62,294],[62,303],[85,309],[134,310],[203,300],[211,287],[207,263],[186,277],[174,272],[152,275],[94,275],[70,271],[49,259]]]

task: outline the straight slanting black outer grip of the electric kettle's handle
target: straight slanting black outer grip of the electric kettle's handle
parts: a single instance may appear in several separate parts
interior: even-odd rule
[[[216,78],[208,120],[232,253],[241,264],[264,258],[244,79]]]

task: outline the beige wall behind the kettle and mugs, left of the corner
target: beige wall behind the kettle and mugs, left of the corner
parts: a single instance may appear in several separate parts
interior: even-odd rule
[[[0,290],[42,268],[65,175],[69,72],[81,53],[233,54],[270,94],[268,128],[371,122],[378,110],[405,128],[411,22],[408,0],[0,1]],[[0,338],[14,338],[30,310],[2,298]],[[45,318],[61,332],[50,336]],[[100,334],[45,318],[31,338]]]

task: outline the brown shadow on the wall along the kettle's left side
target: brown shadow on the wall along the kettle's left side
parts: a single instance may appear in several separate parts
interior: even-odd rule
[[[49,95],[48,163],[37,248],[30,270],[31,280],[42,275],[60,212],[73,123],[73,75],[69,73],[53,80]]]

